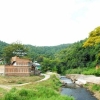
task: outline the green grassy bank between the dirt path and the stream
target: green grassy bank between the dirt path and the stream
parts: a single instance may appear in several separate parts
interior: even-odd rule
[[[44,82],[13,88],[1,100],[73,100],[72,97],[60,95],[60,86],[61,83],[53,75]]]

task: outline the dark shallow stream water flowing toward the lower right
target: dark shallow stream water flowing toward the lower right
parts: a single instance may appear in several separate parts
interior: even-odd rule
[[[61,77],[60,79],[66,83],[65,86],[62,87],[62,95],[73,96],[75,100],[97,100],[90,91],[77,86],[70,79],[66,77]]]

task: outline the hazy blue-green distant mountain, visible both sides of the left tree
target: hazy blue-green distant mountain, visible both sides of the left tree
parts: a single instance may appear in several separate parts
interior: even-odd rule
[[[3,48],[7,45],[9,44],[0,41],[0,57],[2,57]],[[70,44],[61,44],[57,46],[33,46],[33,45],[26,45],[26,44],[24,45],[28,48],[28,56],[31,59],[36,59],[39,56],[54,57],[56,53],[67,48]]]

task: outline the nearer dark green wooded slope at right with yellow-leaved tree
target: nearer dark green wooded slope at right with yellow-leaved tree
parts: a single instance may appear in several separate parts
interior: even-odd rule
[[[87,39],[61,50],[55,59],[45,58],[43,70],[64,73],[68,69],[95,68],[97,64],[100,64],[100,27],[91,31]]]

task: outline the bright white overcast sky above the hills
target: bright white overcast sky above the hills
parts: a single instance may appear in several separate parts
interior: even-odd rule
[[[0,0],[0,40],[6,43],[74,43],[98,26],[100,0]]]

